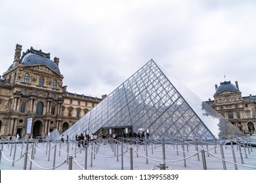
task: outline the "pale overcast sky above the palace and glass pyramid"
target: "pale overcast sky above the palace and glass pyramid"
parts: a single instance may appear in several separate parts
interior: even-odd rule
[[[16,44],[60,58],[68,92],[109,94],[150,59],[201,99],[256,95],[256,1],[0,1],[0,75]]]

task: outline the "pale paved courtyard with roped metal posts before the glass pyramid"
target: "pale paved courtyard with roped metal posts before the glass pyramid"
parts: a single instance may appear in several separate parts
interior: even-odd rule
[[[236,139],[234,139],[236,141]],[[250,144],[251,142],[251,144]],[[1,170],[256,170],[256,135],[230,141],[142,142],[111,139],[78,147],[77,142],[2,144]],[[27,160],[26,160],[27,159]]]

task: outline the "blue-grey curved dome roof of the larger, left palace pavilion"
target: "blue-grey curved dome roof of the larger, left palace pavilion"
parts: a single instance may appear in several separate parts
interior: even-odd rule
[[[60,74],[60,69],[58,68],[58,65],[54,63],[54,61],[52,61],[49,58],[45,58],[43,56],[39,56],[36,54],[32,54],[32,53],[26,54],[26,56],[22,58],[20,63],[24,65],[46,65],[51,69],[53,69],[53,71],[55,71],[56,73]]]

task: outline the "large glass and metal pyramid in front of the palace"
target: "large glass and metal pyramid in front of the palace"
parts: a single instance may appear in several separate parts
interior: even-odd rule
[[[175,78],[169,80],[152,59],[62,134],[117,128],[145,131],[152,139],[244,135]]]

